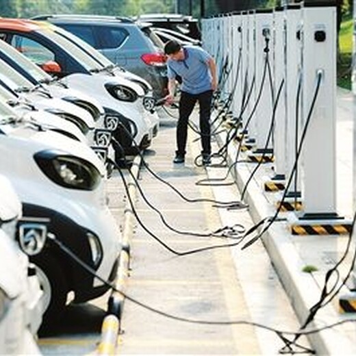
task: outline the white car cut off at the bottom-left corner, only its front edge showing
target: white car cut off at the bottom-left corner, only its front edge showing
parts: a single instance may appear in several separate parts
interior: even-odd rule
[[[19,235],[17,226],[17,231],[22,231],[21,245],[31,253],[38,253],[43,244],[38,246],[33,237],[41,236],[45,242],[46,231],[42,229],[45,226],[18,225],[21,202],[9,179],[3,175],[0,175],[0,196],[0,355],[40,355],[36,334],[42,322],[43,292],[36,269],[29,264],[15,238]]]

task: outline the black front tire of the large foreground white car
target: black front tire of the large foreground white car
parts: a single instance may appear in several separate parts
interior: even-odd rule
[[[40,287],[44,292],[41,329],[47,329],[58,323],[63,315],[68,286],[58,259],[47,253],[36,257],[32,262],[36,266]]]

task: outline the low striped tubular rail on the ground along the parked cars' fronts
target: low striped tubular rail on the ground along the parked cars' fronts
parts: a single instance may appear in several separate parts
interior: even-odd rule
[[[140,170],[141,157],[137,155],[131,166],[131,173],[134,177],[138,177]],[[129,196],[131,201],[136,199],[136,183],[130,179],[128,183]],[[130,262],[130,241],[133,236],[133,212],[129,200],[126,203],[124,210],[123,224],[123,247],[120,252],[118,262],[118,272],[115,278],[115,288],[125,292],[125,285],[129,277],[129,262]],[[118,336],[121,327],[121,316],[123,315],[123,305],[125,297],[120,292],[112,291],[107,302],[107,315],[103,320],[101,327],[101,340],[97,347],[97,355],[116,355],[116,346],[118,344]]]

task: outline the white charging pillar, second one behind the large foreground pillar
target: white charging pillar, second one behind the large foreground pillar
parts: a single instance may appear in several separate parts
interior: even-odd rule
[[[275,100],[281,86],[274,126],[275,177],[273,179],[277,180],[285,179],[285,12],[283,10],[283,8],[276,8],[273,13],[275,31],[272,62],[273,73],[275,73]]]

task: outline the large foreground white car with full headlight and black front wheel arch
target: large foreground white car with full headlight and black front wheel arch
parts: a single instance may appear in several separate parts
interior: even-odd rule
[[[14,116],[0,102],[0,173],[11,179],[23,214],[49,218],[48,230],[62,246],[101,278],[113,281],[122,244],[118,223],[107,207],[103,162],[85,144],[18,123]],[[109,288],[64,247],[51,242],[30,257],[44,290],[44,325],[60,318],[69,292],[73,303],[81,303]]]

